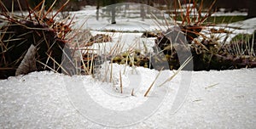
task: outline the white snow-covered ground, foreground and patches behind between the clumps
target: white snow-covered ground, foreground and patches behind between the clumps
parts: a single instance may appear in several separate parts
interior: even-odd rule
[[[117,25],[110,25],[108,19],[96,21],[95,17],[84,17],[87,14],[95,16],[95,13],[93,8],[73,12],[77,14],[78,28],[86,20],[84,26],[87,29],[92,27],[89,28],[93,30],[92,35],[107,33],[113,37],[113,42],[104,43],[106,47],[97,43],[92,48],[107,48],[109,51],[116,42],[125,45],[124,50],[134,44],[143,48],[143,42],[148,48],[154,45],[154,39],[141,37],[141,31],[160,27],[154,20],[132,18],[133,22],[130,22],[122,19]],[[243,30],[239,32],[252,33],[256,29],[255,21],[250,19],[229,26],[241,26]],[[102,65],[99,71],[102,72],[97,73],[95,78],[42,71],[1,80],[0,128],[256,126],[256,69],[181,71],[161,87],[159,85],[177,71],[164,70],[159,73],[157,70],[119,64],[108,65],[108,68]],[[121,83],[123,93],[120,93]],[[144,97],[151,84],[152,89]]]

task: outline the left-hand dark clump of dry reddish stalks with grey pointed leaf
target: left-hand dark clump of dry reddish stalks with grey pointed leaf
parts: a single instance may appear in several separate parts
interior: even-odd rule
[[[34,70],[65,70],[61,66],[71,22],[57,21],[53,5],[44,10],[44,2],[21,14],[15,14],[0,2],[0,78],[18,76]],[[68,2],[68,1],[67,1]],[[20,10],[22,8],[20,7]],[[67,70],[66,70],[67,71]],[[68,74],[68,73],[67,73]]]

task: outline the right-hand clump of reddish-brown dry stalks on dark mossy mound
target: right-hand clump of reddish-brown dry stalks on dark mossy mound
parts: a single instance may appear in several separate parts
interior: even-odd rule
[[[178,1],[179,2],[179,1]],[[213,4],[215,1],[213,1]],[[181,8],[180,3],[178,4]],[[191,5],[191,4],[190,4]],[[210,29],[210,33],[226,33],[223,41],[219,42],[216,36],[206,36],[201,30],[207,28],[204,24],[212,14],[212,6],[208,8],[207,14],[201,14],[202,3],[196,8],[196,3],[185,8],[181,13],[182,22],[177,23],[179,29],[171,28],[160,35],[156,44],[169,62],[170,69],[179,67],[177,52],[183,53],[189,49],[193,55],[193,70],[230,70],[239,68],[253,68],[255,65],[255,44],[253,37],[247,40],[241,39],[227,43],[226,40],[231,31],[225,29]],[[197,10],[198,14],[190,15]],[[195,12],[192,12],[195,14]],[[209,24],[209,23],[208,23]],[[212,24],[213,25],[213,24]],[[181,34],[180,34],[181,33]],[[184,35],[185,39],[183,36]],[[198,39],[201,36],[202,39]],[[174,40],[174,41],[173,41]],[[241,54],[242,53],[242,54]]]

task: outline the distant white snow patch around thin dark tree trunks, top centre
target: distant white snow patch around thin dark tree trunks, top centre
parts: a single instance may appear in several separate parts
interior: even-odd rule
[[[128,5],[128,8],[125,6]],[[140,14],[140,4],[137,3],[119,3],[117,4],[116,23],[111,24],[111,15],[108,7],[99,9],[99,17],[96,20],[96,8],[85,7],[84,10],[77,12],[70,12],[70,17],[75,16],[73,20],[76,24],[73,28],[78,29],[83,25],[83,29],[90,29],[94,31],[155,31],[165,30],[164,26],[159,24],[166,24],[165,21],[156,23],[155,19],[162,20],[166,15],[163,11],[157,8],[144,5],[144,8],[150,10],[145,12],[143,16]],[[151,14],[153,13],[153,14]],[[167,17],[167,19],[170,19]]]

